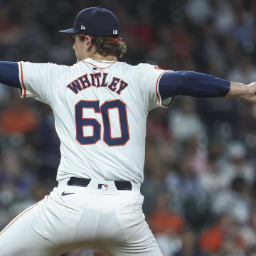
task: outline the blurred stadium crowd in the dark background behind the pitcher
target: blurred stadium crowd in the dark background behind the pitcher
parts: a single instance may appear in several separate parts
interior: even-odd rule
[[[117,14],[124,61],[256,80],[253,0],[0,0],[0,60],[75,63],[58,33],[75,14]],[[50,192],[60,161],[50,108],[0,85],[0,229]],[[144,213],[164,256],[256,255],[256,106],[176,97],[147,122]],[[68,256],[100,253],[75,250]]]

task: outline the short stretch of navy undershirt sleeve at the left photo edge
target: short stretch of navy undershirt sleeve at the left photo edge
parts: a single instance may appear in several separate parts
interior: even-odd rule
[[[4,85],[21,88],[18,78],[18,63],[0,61],[0,82]]]

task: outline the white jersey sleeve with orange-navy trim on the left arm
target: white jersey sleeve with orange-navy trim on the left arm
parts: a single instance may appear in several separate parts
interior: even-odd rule
[[[50,105],[59,80],[65,77],[65,65],[53,63],[19,62],[18,73],[21,83],[21,97],[33,97]]]

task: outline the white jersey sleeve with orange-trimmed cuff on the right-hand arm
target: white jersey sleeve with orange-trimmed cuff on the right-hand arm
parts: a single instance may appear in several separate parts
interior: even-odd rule
[[[147,111],[159,106],[169,107],[174,101],[174,97],[168,97],[165,100],[162,100],[159,93],[159,80],[167,71],[169,70],[162,70],[156,65],[146,63],[137,65],[139,91]]]

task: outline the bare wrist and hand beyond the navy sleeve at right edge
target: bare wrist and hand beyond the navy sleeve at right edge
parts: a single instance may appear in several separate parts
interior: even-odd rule
[[[240,82],[230,82],[230,91],[226,96],[256,103],[256,82],[252,82],[250,85]]]

